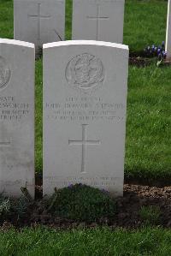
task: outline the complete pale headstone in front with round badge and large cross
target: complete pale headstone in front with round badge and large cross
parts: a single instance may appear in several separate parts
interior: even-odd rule
[[[128,47],[44,45],[44,194],[85,183],[123,193]]]

